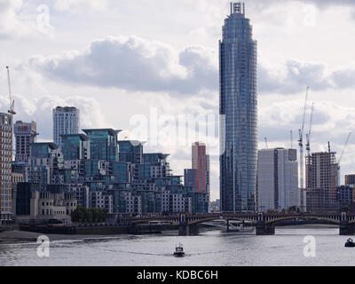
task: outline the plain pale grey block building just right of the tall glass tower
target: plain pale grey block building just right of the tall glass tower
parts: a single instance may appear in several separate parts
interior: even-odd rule
[[[299,207],[298,162],[296,149],[266,149],[257,154],[258,211]]]

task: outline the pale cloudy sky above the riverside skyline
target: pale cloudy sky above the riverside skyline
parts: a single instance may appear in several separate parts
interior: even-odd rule
[[[340,158],[355,124],[355,1],[244,3],[257,41],[259,148],[264,138],[268,147],[297,146],[309,86],[312,152],[330,141]],[[11,68],[15,120],[36,121],[38,141],[51,141],[52,108],[79,107],[82,129],[147,141],[146,152],[170,154],[176,175],[191,167],[191,143],[206,141],[216,200],[216,131],[204,138],[183,125],[217,124],[218,41],[228,13],[221,0],[0,0],[0,67]],[[7,94],[4,68],[0,112]],[[355,133],[342,176],[355,173],[354,162]]]

